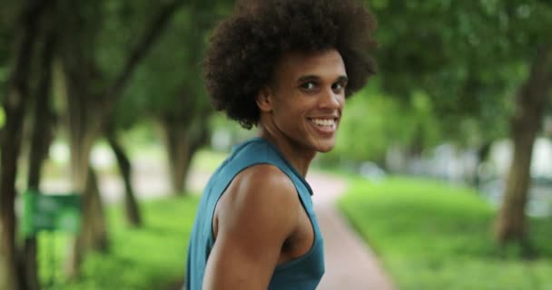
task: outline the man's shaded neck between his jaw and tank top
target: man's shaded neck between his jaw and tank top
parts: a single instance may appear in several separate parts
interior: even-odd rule
[[[259,135],[276,146],[276,148],[281,151],[284,158],[290,162],[291,166],[305,178],[309,166],[311,166],[311,161],[316,155],[316,151],[302,148],[301,145],[290,140],[287,136],[282,134],[281,131],[274,130],[270,128],[270,126],[263,126],[260,123],[259,127]]]

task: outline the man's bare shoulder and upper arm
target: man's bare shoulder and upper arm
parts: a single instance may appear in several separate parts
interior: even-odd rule
[[[267,289],[281,247],[297,226],[298,202],[280,169],[262,164],[242,171],[217,205],[203,289]]]

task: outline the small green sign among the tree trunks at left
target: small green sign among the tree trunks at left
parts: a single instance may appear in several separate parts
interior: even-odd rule
[[[78,233],[81,230],[81,197],[50,195],[27,189],[24,198],[23,232],[32,237],[41,230]]]

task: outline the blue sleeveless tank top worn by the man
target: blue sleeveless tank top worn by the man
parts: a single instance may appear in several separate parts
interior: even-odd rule
[[[205,266],[214,244],[212,218],[219,198],[236,175],[255,164],[274,165],[291,179],[314,229],[314,243],[309,252],[276,266],[269,289],[310,290],[319,284],[324,274],[324,252],[322,235],[312,207],[312,189],[275,146],[262,138],[253,138],[233,148],[230,157],[224,160],[203,190],[188,247],[186,289],[202,289]]]

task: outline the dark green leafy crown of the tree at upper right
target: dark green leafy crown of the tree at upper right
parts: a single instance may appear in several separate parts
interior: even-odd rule
[[[425,92],[449,140],[478,145],[507,133],[512,96],[537,48],[549,45],[549,1],[380,0],[377,59],[386,92]]]

